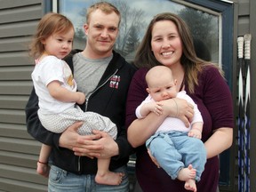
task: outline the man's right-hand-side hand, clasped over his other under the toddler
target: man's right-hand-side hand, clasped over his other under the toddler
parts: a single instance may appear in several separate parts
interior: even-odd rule
[[[116,141],[113,140],[107,132],[94,130],[93,133],[100,139],[87,140],[84,137],[78,138],[76,147],[73,148],[76,156],[110,158],[111,156],[118,155],[119,148]]]

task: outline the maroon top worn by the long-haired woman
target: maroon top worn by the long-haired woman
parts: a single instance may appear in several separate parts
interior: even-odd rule
[[[133,76],[126,105],[127,127],[136,119],[135,109],[137,106],[148,96],[145,81],[147,71],[146,68],[140,68]],[[234,127],[233,103],[228,84],[220,76],[217,68],[204,68],[204,71],[198,76],[198,80],[199,85],[195,87],[194,94],[189,94],[186,85],[185,91],[201,111],[204,119],[202,140],[206,141],[214,130],[220,127]],[[163,169],[158,169],[156,164],[153,164],[144,145],[137,148],[136,155],[136,176],[143,191],[188,192],[184,188],[184,181],[172,180]],[[201,180],[196,183],[197,191],[216,192],[218,181],[219,158],[214,156],[205,164]]]

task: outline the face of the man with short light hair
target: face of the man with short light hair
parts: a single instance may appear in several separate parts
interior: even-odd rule
[[[106,14],[101,10],[91,13],[84,25],[87,36],[86,50],[91,57],[103,58],[112,54],[118,35],[119,17],[116,12]]]

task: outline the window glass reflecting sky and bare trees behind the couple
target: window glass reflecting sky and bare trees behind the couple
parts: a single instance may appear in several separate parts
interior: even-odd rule
[[[116,41],[115,50],[120,52],[126,60],[132,60],[135,49],[145,34],[149,20],[159,12],[173,12],[179,14],[187,21],[189,28],[195,38],[200,57],[205,60],[220,62],[219,55],[219,23],[220,13],[208,12],[193,8],[193,4],[178,4],[168,0],[112,0],[122,14],[120,34]],[[60,0],[60,12],[73,21],[76,28],[75,48],[84,49],[86,36],[84,36],[83,24],[85,22],[86,8],[94,4],[93,0]],[[150,10],[150,12],[148,12]],[[191,16],[192,15],[192,16]],[[206,46],[207,44],[207,46]]]

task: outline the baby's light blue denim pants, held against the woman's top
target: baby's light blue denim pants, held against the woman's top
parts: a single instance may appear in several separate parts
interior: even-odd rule
[[[188,137],[188,132],[157,132],[151,136],[146,147],[151,155],[175,180],[180,169],[192,164],[196,169],[196,181],[200,180],[206,163],[206,150],[202,140]]]

